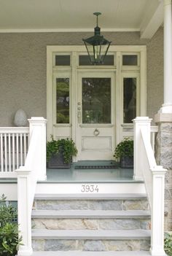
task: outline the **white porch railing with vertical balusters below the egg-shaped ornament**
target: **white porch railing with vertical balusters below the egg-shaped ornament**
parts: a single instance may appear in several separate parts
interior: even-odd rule
[[[25,164],[28,152],[28,132],[28,127],[0,128],[0,177],[17,177],[15,169]]]

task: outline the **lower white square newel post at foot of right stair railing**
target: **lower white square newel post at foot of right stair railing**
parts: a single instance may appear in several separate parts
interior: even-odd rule
[[[152,209],[151,209],[151,255],[163,256],[164,252],[164,190],[165,169],[157,166],[152,171]]]

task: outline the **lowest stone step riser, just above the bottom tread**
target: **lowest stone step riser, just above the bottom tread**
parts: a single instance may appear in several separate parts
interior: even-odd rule
[[[149,239],[141,240],[36,240],[33,239],[34,251],[149,251]]]

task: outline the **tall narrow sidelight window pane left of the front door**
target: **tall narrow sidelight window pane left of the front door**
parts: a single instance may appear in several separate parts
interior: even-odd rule
[[[69,123],[69,78],[56,79],[56,122]]]

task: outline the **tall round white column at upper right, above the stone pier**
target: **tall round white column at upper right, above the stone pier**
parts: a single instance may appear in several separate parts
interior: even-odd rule
[[[164,104],[160,113],[172,113],[172,14],[171,0],[164,0]]]

